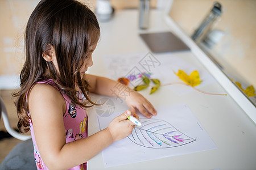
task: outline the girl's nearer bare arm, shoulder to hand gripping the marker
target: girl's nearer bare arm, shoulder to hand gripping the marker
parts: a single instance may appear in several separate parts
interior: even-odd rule
[[[49,169],[69,169],[87,162],[114,141],[127,137],[135,124],[126,120],[130,113],[114,118],[108,128],[85,139],[66,143],[63,96],[48,84],[36,84],[28,95],[36,143]]]

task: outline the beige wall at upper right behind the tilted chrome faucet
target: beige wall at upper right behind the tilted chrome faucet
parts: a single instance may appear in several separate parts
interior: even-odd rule
[[[214,0],[174,0],[170,15],[191,36],[212,9],[214,2]],[[256,87],[256,1],[218,0],[218,2],[221,3],[223,12],[214,27],[224,31],[225,36],[214,46],[214,52],[235,68],[249,84]]]

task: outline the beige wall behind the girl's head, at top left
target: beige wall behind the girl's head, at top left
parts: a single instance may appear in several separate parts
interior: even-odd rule
[[[96,0],[80,2],[88,5],[92,10]],[[23,35],[27,20],[38,4],[39,0],[0,0],[0,76],[18,75],[23,62]],[[138,0],[110,0],[115,9],[134,8]],[[151,1],[151,6],[156,0]]]

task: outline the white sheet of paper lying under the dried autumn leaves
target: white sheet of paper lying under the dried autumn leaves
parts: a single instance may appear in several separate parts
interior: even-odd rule
[[[189,75],[192,71],[197,70],[203,82],[196,88],[204,87],[216,81],[207,71],[199,70],[171,53],[154,55],[151,53],[134,53],[104,56],[107,76],[110,79],[117,80],[129,74],[152,73],[151,78],[159,79],[161,84],[184,83],[174,74],[174,71],[177,73],[178,70],[183,70]],[[133,84],[130,87],[137,86],[139,82],[130,82],[130,84]],[[191,87],[182,84],[173,84],[167,87],[177,95],[184,95],[193,90]]]

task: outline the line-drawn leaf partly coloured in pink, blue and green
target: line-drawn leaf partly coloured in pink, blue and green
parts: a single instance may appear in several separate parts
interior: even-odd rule
[[[170,148],[186,145],[196,139],[188,137],[163,120],[141,118],[141,126],[135,126],[128,138],[148,148]]]

